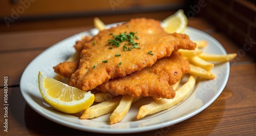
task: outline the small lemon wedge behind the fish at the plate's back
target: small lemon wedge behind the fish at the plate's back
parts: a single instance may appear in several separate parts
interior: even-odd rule
[[[183,33],[187,27],[187,17],[182,9],[175,14],[166,17],[162,21],[162,27],[167,33]]]

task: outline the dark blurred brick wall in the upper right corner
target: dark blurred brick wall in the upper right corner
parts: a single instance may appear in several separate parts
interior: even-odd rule
[[[249,0],[216,0],[207,3],[199,16],[211,22],[219,31],[254,57],[256,51],[256,5]]]

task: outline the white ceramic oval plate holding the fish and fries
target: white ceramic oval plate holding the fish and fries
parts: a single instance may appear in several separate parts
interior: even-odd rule
[[[116,24],[108,27],[113,25]],[[139,107],[148,103],[146,100],[148,98],[146,98],[133,104],[125,118],[114,125],[109,124],[110,114],[92,120],[80,120],[81,113],[69,115],[52,109],[39,93],[37,85],[38,71],[46,76],[54,77],[55,73],[52,67],[65,61],[75,52],[73,48],[75,41],[80,40],[84,35],[92,36],[97,33],[96,29],[92,29],[64,39],[42,52],[27,66],[20,80],[20,89],[28,105],[38,114],[63,126],[97,133],[135,133],[163,127],[169,129],[168,126],[193,117],[208,107],[221,94],[227,83],[229,63],[216,64],[212,70],[216,79],[197,82],[193,92],[175,107],[137,120],[136,115]],[[192,40],[207,40],[208,46],[204,49],[204,52],[226,54],[222,45],[210,35],[190,27],[187,27],[184,33],[188,34]]]

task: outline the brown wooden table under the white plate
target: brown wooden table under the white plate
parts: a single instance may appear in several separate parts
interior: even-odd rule
[[[243,49],[200,17],[189,26],[203,30],[221,42],[227,53],[238,53],[230,63],[230,76],[218,99],[198,115],[168,128],[121,135],[255,135],[255,61]],[[92,26],[0,33],[0,135],[102,135],[54,123],[26,104],[19,81],[31,60],[54,43]],[[254,45],[255,46],[255,45]],[[4,131],[4,77],[8,77],[8,132]],[[107,134],[106,134],[107,135]]]

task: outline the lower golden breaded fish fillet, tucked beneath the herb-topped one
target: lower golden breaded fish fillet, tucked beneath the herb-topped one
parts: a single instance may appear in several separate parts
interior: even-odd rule
[[[170,99],[175,97],[175,91],[171,85],[188,72],[188,61],[175,52],[170,57],[157,60],[151,67],[125,77],[111,79],[95,89],[113,95],[154,96]]]

